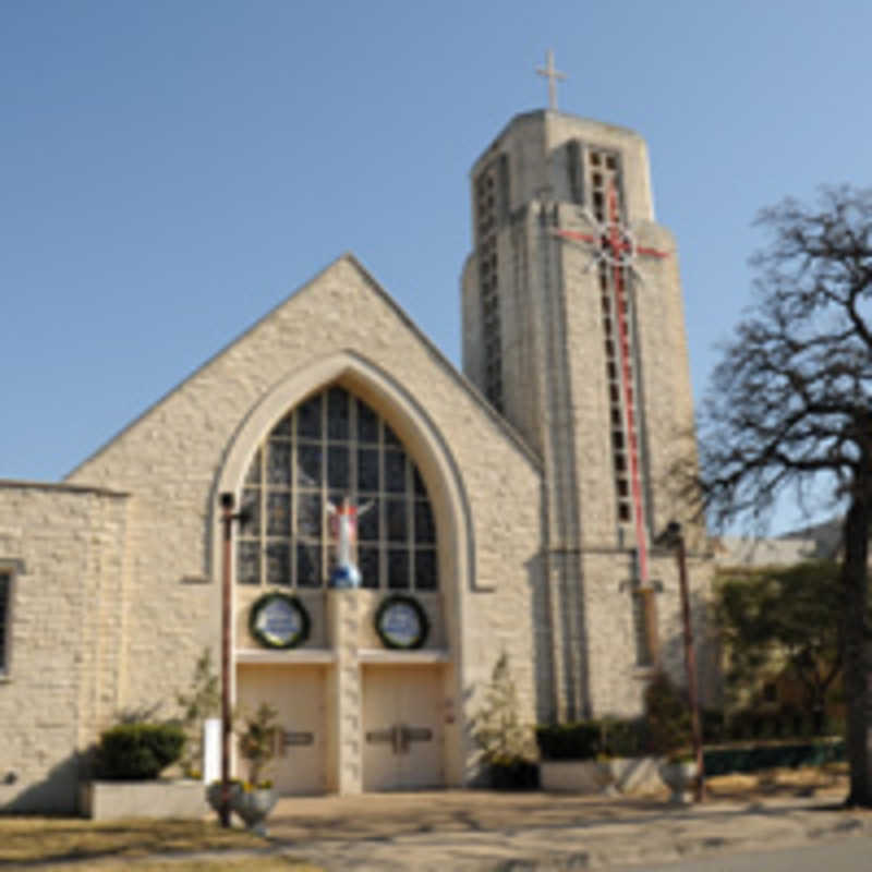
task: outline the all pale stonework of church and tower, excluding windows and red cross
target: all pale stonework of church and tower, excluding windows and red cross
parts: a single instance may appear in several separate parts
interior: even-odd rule
[[[639,665],[633,543],[616,510],[595,276],[585,272],[589,254],[552,234],[578,220],[585,187],[573,161],[590,143],[621,156],[625,209],[639,240],[670,252],[640,267],[633,336],[646,535],[676,517],[656,482],[691,437],[692,410],[675,246],[653,221],[644,143],[554,112],[519,117],[473,169],[475,185],[483,167],[495,168],[502,193],[464,270],[470,380],[344,255],[64,483],[0,483],[0,571],[12,579],[1,808],[75,808],[99,731],[123,713],[172,716],[199,653],[210,647],[218,662],[218,497],[231,493],[239,505],[271,428],[329,386],[389,424],[420,472],[439,584],[412,591],[431,632],[420,650],[400,652],[385,650],[373,625],[390,590],[293,591],[311,618],[308,639],[271,651],[249,630],[268,588],[233,585],[232,691],[253,692],[258,664],[287,688],[303,687],[304,674],[323,682],[316,726],[299,735],[324,734],[313,740],[324,789],[373,783],[366,754],[388,739],[367,727],[365,701],[384,670],[426,675],[439,688],[425,701],[436,713],[428,726],[395,724],[389,740],[400,754],[436,742],[432,777],[444,785],[475,777],[470,725],[504,651],[528,723],[640,710],[651,668]],[[480,281],[485,237],[499,264],[495,335]],[[475,385],[500,396],[488,402]],[[680,676],[675,562],[653,550],[651,566],[663,659]],[[708,564],[694,557],[691,578],[702,603]]]

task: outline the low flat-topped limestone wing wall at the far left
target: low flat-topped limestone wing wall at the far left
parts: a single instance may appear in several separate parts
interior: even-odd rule
[[[122,494],[0,483],[0,809],[75,810],[80,755],[123,705],[128,520]]]

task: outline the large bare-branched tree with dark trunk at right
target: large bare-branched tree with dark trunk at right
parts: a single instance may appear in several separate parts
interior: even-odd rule
[[[785,491],[845,510],[840,645],[849,804],[872,806],[868,571],[872,519],[872,190],[823,189],[758,221],[756,302],[724,348],[700,421],[716,519],[765,518]]]

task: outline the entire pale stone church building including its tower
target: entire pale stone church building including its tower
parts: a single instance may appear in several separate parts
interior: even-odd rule
[[[462,373],[344,254],[62,482],[0,482],[0,809],[75,810],[99,732],[220,663],[222,495],[232,695],[278,711],[282,794],[473,784],[504,652],[531,725],[682,680],[657,533],[699,616],[712,562],[669,489],[693,410],[645,143],[528,112],[470,190]]]

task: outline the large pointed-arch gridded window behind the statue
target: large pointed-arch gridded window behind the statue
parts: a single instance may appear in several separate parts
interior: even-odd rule
[[[437,590],[436,524],[424,481],[388,424],[338,386],[279,421],[249,467],[237,581],[324,586],[335,558],[327,508],[346,496],[361,510],[362,586]]]

